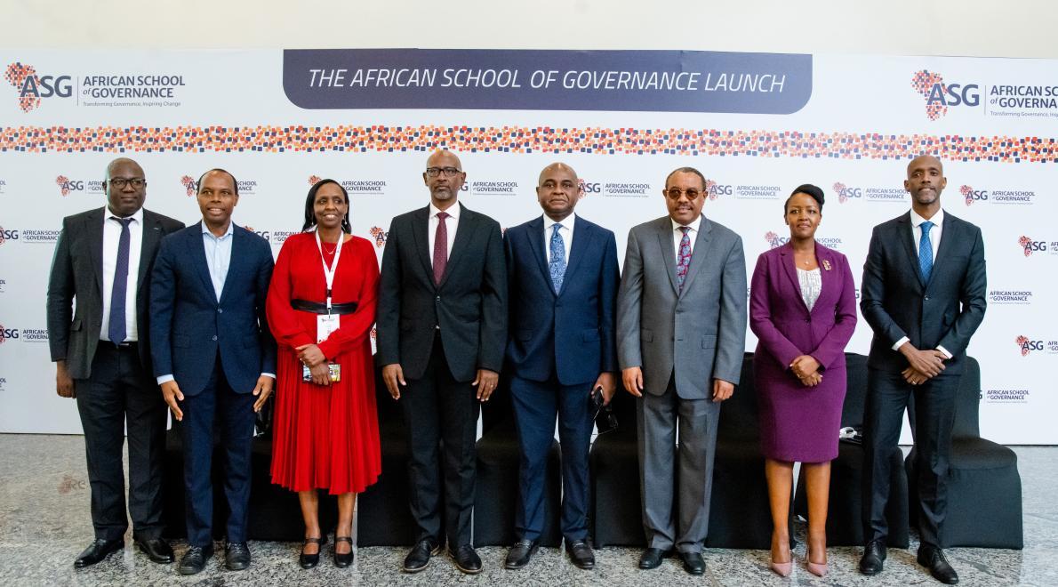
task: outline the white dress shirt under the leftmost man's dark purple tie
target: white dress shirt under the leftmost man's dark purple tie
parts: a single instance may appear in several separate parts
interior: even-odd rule
[[[114,271],[117,269],[117,241],[122,238],[122,223],[114,219],[109,207],[103,208],[103,325],[99,340],[110,340],[110,295],[114,291]],[[143,208],[135,210],[129,222],[129,274],[125,286],[125,342],[135,343],[140,332],[135,320],[135,293],[140,285],[140,252],[143,249]]]

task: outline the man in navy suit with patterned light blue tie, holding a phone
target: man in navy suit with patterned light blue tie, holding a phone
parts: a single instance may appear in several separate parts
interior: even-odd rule
[[[536,197],[544,215],[504,237],[507,253],[511,398],[522,466],[515,532],[505,566],[519,569],[544,529],[544,474],[559,418],[562,446],[562,534],[574,565],[595,568],[587,544],[591,395],[616,389],[615,307],[620,281],[614,233],[573,214],[577,172],[548,165]]]

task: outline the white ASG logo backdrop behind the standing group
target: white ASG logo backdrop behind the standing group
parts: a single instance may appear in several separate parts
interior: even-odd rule
[[[981,427],[1058,443],[1058,63],[664,51],[0,52],[0,432],[78,434],[55,393],[44,294],[61,219],[105,204],[104,170],[146,171],[146,207],[190,223],[195,181],[238,179],[235,222],[278,254],[309,187],[341,182],[381,260],[393,216],[426,205],[430,152],[504,226],[541,213],[540,170],[582,180],[577,213],[627,231],[663,216],[669,171],[708,178],[704,214],[742,235],[747,274],[788,238],[782,204],[826,192],[817,237],[859,281],[871,227],[904,214],[906,165],[940,157],[948,214],[980,225],[988,311]],[[382,293],[385,295],[385,292]],[[860,322],[849,350],[865,353]],[[755,340],[750,333],[746,349]],[[905,435],[905,440],[910,440]]]

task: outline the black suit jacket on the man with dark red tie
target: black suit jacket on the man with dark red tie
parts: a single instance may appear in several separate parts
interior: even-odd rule
[[[499,224],[462,204],[440,285],[434,283],[430,206],[393,219],[382,254],[377,360],[399,363],[406,378],[426,370],[434,336],[456,381],[477,369],[499,371],[507,343],[507,271]]]

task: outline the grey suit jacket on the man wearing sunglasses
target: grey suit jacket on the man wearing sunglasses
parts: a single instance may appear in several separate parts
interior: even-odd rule
[[[712,397],[712,380],[738,383],[746,349],[746,259],[742,238],[703,218],[680,293],[672,220],[628,232],[617,296],[621,368],[640,366],[643,386],[664,393],[675,375],[683,399]]]

